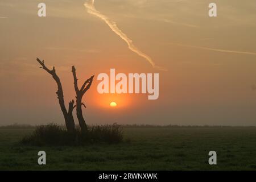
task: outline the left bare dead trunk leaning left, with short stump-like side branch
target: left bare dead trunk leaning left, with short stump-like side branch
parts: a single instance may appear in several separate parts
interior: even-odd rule
[[[67,109],[65,107],[65,102],[64,102],[63,89],[62,89],[62,86],[61,86],[60,78],[57,76],[57,74],[55,72],[55,67],[53,67],[52,70],[50,70],[46,67],[46,65],[44,65],[44,60],[41,61],[38,58],[36,60],[38,61],[38,63],[40,65],[42,65],[42,67],[40,67],[40,68],[44,69],[49,74],[51,74],[53,79],[56,81],[57,88],[58,88],[56,94],[57,94],[57,98],[59,100],[61,111],[64,115],[67,130],[70,131],[70,132],[74,131],[75,130],[75,122],[74,122],[74,118],[73,118],[73,114],[72,114],[73,109],[75,108],[74,100],[69,102],[68,111],[67,111]]]

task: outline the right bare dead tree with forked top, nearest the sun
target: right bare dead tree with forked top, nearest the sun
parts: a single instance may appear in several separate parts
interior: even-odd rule
[[[85,92],[90,88],[90,85],[92,85],[93,76],[91,76],[88,80],[82,84],[81,89],[78,88],[77,85],[77,77],[76,77],[76,68],[75,66],[72,67],[72,73],[74,77],[74,87],[76,91],[76,116],[79,121],[79,125],[81,128],[81,132],[85,133],[87,130],[87,125],[85,123],[84,117],[82,116],[82,106],[86,107],[84,103],[82,103],[82,96],[84,96]]]

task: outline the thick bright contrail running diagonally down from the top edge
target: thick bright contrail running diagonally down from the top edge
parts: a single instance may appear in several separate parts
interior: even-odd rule
[[[155,65],[154,61],[152,61],[151,57],[146,55],[146,53],[143,53],[141,50],[139,50],[137,47],[134,46],[133,44],[133,41],[131,39],[129,39],[127,37],[127,35],[125,33],[122,32],[122,30],[120,30],[118,27],[117,27],[117,24],[115,22],[113,22],[112,20],[110,20],[107,16],[103,15],[100,13],[100,11],[97,11],[94,7],[94,0],[89,0],[87,2],[84,3],[84,6],[86,7],[87,9],[87,12],[89,14],[92,14],[92,15],[95,15],[97,16],[98,18],[104,20],[104,22],[106,24],[108,24],[108,26],[111,28],[111,30],[113,32],[115,32],[115,34],[117,34],[121,39],[123,39],[129,49],[135,53],[137,53],[137,55],[143,57],[144,59],[146,59],[148,61],[148,63],[150,63],[152,65],[153,68],[157,68],[159,70],[162,70],[162,71],[167,71],[166,69],[164,68],[161,68],[161,67],[158,67]]]

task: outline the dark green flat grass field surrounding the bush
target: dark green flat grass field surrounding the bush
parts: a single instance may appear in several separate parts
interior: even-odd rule
[[[22,146],[33,129],[0,129],[0,169],[255,170],[256,127],[126,127],[125,142],[84,147]],[[38,151],[47,165],[39,166]],[[208,152],[217,152],[217,165]]]

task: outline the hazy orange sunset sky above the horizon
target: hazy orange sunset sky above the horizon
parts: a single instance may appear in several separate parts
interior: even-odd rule
[[[38,4],[46,3],[46,17]],[[256,126],[256,1],[95,0],[94,7],[155,65],[132,51],[84,1],[0,1],[0,125],[64,124],[56,83],[36,57],[55,66],[65,104],[96,75],[83,97],[88,124]],[[159,98],[100,94],[97,75],[159,73]],[[110,107],[110,102],[117,107]],[[75,116],[75,110],[73,115]],[[77,121],[76,121],[77,123]]]

